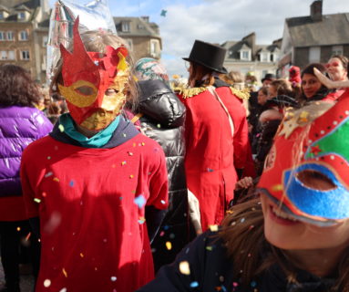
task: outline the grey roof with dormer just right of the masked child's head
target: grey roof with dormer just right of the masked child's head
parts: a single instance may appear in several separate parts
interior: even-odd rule
[[[149,23],[141,17],[113,17],[117,27],[118,36],[157,36],[159,37],[159,26]],[[129,32],[123,32],[123,22],[129,23]]]

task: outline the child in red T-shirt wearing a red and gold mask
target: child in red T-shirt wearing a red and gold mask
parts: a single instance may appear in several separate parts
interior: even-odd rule
[[[125,42],[77,27],[52,81],[69,112],[21,165],[41,235],[36,292],[132,292],[154,276],[149,239],[168,206],[165,155],[121,114],[137,98]]]

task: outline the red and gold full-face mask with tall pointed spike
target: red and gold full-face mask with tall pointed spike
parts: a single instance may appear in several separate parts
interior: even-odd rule
[[[106,47],[105,53],[87,52],[73,27],[73,52],[60,45],[63,85],[60,93],[77,124],[88,130],[102,130],[114,120],[126,102],[129,67],[126,47]]]

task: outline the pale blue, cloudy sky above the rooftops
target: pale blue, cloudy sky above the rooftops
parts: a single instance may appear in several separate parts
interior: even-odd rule
[[[86,4],[89,1],[78,0]],[[55,3],[50,0],[51,6]],[[284,19],[309,16],[313,0],[108,0],[113,16],[150,16],[159,25],[162,62],[169,75],[185,74],[195,39],[222,44],[256,33],[258,45],[281,38]],[[160,16],[166,10],[166,16]],[[348,0],[323,0],[323,14],[349,13]],[[348,26],[349,29],[349,26]]]

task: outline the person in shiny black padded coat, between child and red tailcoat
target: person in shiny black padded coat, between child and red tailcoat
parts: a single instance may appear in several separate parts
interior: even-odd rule
[[[190,224],[187,184],[184,171],[185,106],[168,85],[166,70],[152,58],[136,63],[139,78],[140,129],[159,142],[165,152],[169,172],[169,211],[151,243],[154,265],[169,264],[196,234]],[[136,123],[137,124],[137,123]]]

